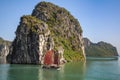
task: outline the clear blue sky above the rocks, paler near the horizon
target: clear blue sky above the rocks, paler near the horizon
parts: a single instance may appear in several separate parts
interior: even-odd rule
[[[64,7],[80,22],[83,37],[111,43],[120,53],[120,0],[0,0],[0,37],[13,41],[20,17],[40,1]]]

